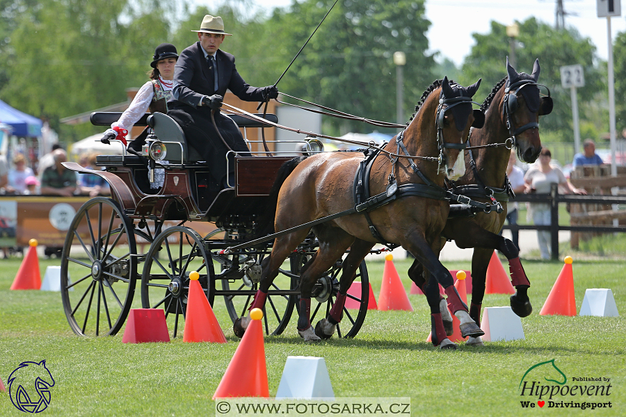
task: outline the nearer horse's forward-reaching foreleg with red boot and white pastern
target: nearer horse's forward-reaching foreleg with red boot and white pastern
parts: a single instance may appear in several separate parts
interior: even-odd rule
[[[450,272],[442,265],[438,256],[433,252],[431,246],[426,242],[424,235],[418,231],[410,234],[408,241],[403,244],[420,261],[424,268],[431,272],[431,275],[444,288],[448,297],[448,306],[460,321],[460,331],[465,336],[482,336],[485,334],[476,322],[470,318],[467,305],[460,299],[458,291],[454,287],[454,280]]]

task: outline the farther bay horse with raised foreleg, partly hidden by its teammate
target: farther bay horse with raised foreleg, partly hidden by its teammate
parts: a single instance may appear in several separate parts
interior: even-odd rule
[[[533,65],[533,72],[517,72],[506,58],[507,76],[499,81],[485,99],[481,110],[485,112],[483,129],[470,131],[469,146],[465,155],[466,172],[454,182],[454,193],[467,195],[479,201],[489,201],[488,194],[498,199],[504,208],[501,213],[477,213],[476,217],[451,218],[442,231],[442,236],[454,240],[462,249],[474,248],[472,254],[472,302],[470,316],[480,326],[481,304],[485,295],[487,267],[494,250],[499,250],[508,259],[511,271],[511,284],[515,294],[511,295],[511,309],[520,317],[529,316],[532,306],[527,295],[530,281],[520,262],[520,250],[507,238],[499,236],[506,220],[508,201],[508,179],[506,165],[511,154],[510,147],[516,148],[517,158],[533,163],[541,150],[539,136],[539,116],[552,111],[552,98],[542,97],[539,92],[539,60]],[[482,147],[485,145],[491,145]],[[473,151],[471,147],[481,147]],[[481,197],[482,196],[482,197]],[[419,260],[409,268],[409,277],[419,287],[424,286],[422,265]],[[440,297],[442,299],[442,297]],[[447,313],[445,303],[442,313]],[[448,313],[449,316],[449,313]],[[450,317],[451,320],[451,317]],[[444,321],[451,332],[451,322]],[[482,345],[480,338],[470,337],[469,345]]]

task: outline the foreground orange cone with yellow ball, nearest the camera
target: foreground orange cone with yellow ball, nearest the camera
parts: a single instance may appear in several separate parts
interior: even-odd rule
[[[226,368],[213,399],[227,397],[269,398],[265,345],[261,319],[263,311],[250,311],[250,325]]]

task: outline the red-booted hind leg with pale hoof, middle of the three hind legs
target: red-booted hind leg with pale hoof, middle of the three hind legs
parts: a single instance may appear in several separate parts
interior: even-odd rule
[[[298,334],[305,341],[320,341],[311,325],[311,292],[317,279],[341,259],[354,237],[335,227],[319,227],[315,230],[319,249],[312,262],[307,263],[300,274],[300,300],[298,300]],[[347,290],[346,290],[347,291]]]

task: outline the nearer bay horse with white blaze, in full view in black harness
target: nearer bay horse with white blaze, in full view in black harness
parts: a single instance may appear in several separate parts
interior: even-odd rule
[[[397,193],[400,197],[377,206],[367,215],[353,213],[312,228],[319,240],[319,249],[300,271],[300,300],[297,304],[298,334],[305,341],[319,341],[319,334],[330,337],[335,332],[342,319],[346,294],[355,271],[379,240],[404,247],[442,284],[461,322],[463,334],[483,334],[452,285],[450,272],[439,261],[440,234],[448,217],[449,202],[433,197],[443,191],[444,178],[454,180],[465,173],[465,159],[458,156],[465,147],[470,126],[480,127],[484,122],[483,113],[472,111],[472,96],[480,81],[467,88],[449,82],[447,77],[435,81],[422,95],[406,129],[385,145],[380,152],[384,156],[379,154],[373,158],[371,174],[365,179],[365,183],[369,181],[369,193],[384,195],[386,190],[387,195],[393,197]],[[401,152],[410,158],[398,157]],[[287,162],[289,166],[283,166],[284,172],[279,174],[275,183],[280,186],[276,204],[270,204],[275,207],[275,231],[355,207],[358,203],[353,188],[355,172],[363,160],[363,154],[358,152],[329,152]],[[275,238],[271,255],[263,261],[259,290],[250,309],[263,308],[278,268],[309,232],[310,228],[300,229]],[[348,247],[350,252],[342,264],[337,299],[328,318],[321,320],[316,334],[310,323],[312,288],[319,277],[342,258]],[[456,348],[443,330],[438,290],[429,293],[431,299],[431,324],[433,335],[436,335],[433,343],[442,348]],[[243,335],[249,320],[249,315],[237,320],[235,334]]]

